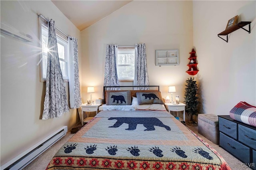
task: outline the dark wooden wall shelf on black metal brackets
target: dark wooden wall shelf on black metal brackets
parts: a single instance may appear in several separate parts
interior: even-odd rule
[[[248,24],[249,24],[249,30],[244,29],[243,27],[248,25]],[[251,22],[250,21],[241,21],[241,22],[237,23],[236,25],[234,25],[234,26],[226,29],[225,31],[219,33],[218,37],[228,43],[228,34],[234,32],[234,31],[236,31],[240,28],[242,28],[243,30],[245,30],[246,32],[248,32],[250,34],[251,33]],[[226,36],[227,40],[225,40],[224,38],[222,38],[220,36]]]

